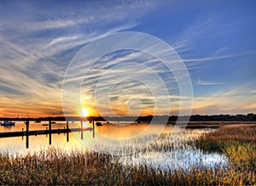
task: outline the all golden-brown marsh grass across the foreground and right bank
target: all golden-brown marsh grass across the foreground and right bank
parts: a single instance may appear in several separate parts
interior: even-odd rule
[[[255,128],[253,133],[254,130]],[[232,131],[228,137],[224,135],[227,131]],[[244,132],[250,132],[250,135],[244,137]],[[189,170],[183,167],[177,170],[163,170],[148,164],[124,164],[119,161],[119,156],[49,148],[27,155],[0,153],[0,184],[253,185],[256,184],[255,160],[252,159],[255,153],[255,138],[254,134],[251,136],[251,132],[250,127],[244,130],[222,127],[192,143],[187,140],[189,145],[229,155],[230,166],[227,168],[193,166]],[[156,144],[152,144],[151,150],[166,152],[177,148],[174,144],[166,142],[166,138],[168,135],[162,135]],[[216,148],[215,143],[222,146]],[[240,161],[252,163],[242,164]]]

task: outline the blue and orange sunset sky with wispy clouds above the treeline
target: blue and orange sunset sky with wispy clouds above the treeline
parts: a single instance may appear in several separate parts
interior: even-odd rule
[[[256,113],[254,1],[3,0],[0,4],[2,117],[61,116],[63,79],[75,54],[88,43],[121,31],[146,33],[173,48],[189,72],[193,87],[191,114]],[[137,65],[129,65],[127,61],[131,60]],[[171,114],[177,115],[180,93],[175,76],[167,73],[158,59],[137,51],[107,54],[91,67],[85,78],[82,70],[77,73],[84,78],[83,107],[97,115],[95,102],[99,102],[103,108],[101,115],[113,114],[104,109],[105,99],[95,100],[96,83],[102,70],[105,75],[107,70],[104,86],[108,87],[110,82],[116,86],[107,94],[102,87],[97,98],[108,98],[114,113],[165,113],[154,113],[156,98],[152,92],[159,85],[154,78],[148,82],[152,84],[145,85],[129,79],[130,76],[123,82],[113,76],[113,71],[118,70],[119,74],[146,79],[150,68],[143,69],[140,64],[148,61],[152,62],[151,70],[157,71],[164,82],[170,82],[167,99],[171,100]],[[138,99],[141,104],[137,106]],[[170,108],[163,110],[166,109]],[[79,115],[79,109],[71,108],[68,115]]]

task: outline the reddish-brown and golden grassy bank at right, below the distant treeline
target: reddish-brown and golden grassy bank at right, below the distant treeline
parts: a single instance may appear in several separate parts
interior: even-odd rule
[[[237,168],[256,173],[256,125],[225,125],[196,140],[196,146],[207,152],[218,152],[230,158]]]

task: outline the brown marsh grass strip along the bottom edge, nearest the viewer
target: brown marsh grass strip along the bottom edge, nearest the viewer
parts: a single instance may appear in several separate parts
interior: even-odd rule
[[[38,155],[9,157],[0,155],[1,184],[182,184],[219,185],[255,183],[255,175],[207,167],[193,167],[189,172],[179,169],[161,171],[150,166],[125,166],[113,157],[97,153],[67,155],[57,149]],[[254,181],[253,181],[254,180]]]

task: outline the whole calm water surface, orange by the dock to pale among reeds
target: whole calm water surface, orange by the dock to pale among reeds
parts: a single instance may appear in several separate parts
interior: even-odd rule
[[[34,124],[31,122],[30,130],[43,130],[48,126],[43,126],[44,122]],[[0,138],[0,149],[2,152],[27,153],[41,149],[48,149],[49,146],[64,149],[67,152],[72,150],[94,149],[100,152],[107,152],[112,155],[124,154],[120,161],[125,164],[140,165],[149,164],[163,169],[176,169],[183,167],[189,169],[190,166],[225,166],[227,158],[224,155],[205,154],[200,149],[195,149],[193,145],[186,144],[186,141],[193,140],[210,132],[206,129],[185,130],[177,141],[172,141],[172,126],[166,129],[159,136],[160,125],[131,124],[127,123],[102,123],[102,127],[96,127],[95,136],[92,131],[69,132],[68,142],[67,133],[52,134],[51,145],[49,145],[49,135],[38,135],[29,137],[29,148],[26,149],[26,137]],[[70,122],[69,128],[80,127],[80,122]],[[91,127],[89,122],[83,123],[84,127]],[[66,127],[65,121],[57,121],[52,125],[52,129]],[[15,127],[0,127],[0,132],[22,131],[26,125],[17,121]],[[147,132],[145,132],[147,131]],[[143,133],[144,132],[144,133]],[[142,135],[143,134],[143,135]],[[170,135],[171,134],[171,135]],[[172,142],[171,142],[172,141]],[[150,147],[153,142],[154,148]],[[172,149],[166,147],[172,143]],[[120,153],[121,152],[121,153]],[[136,152],[134,155],[129,155]]]

